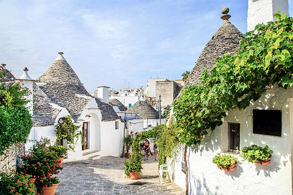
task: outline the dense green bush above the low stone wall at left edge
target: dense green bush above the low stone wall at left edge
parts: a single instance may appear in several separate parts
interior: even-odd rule
[[[31,115],[25,105],[31,94],[20,82],[5,82],[11,74],[0,66],[0,154],[15,143],[25,142],[32,128]]]

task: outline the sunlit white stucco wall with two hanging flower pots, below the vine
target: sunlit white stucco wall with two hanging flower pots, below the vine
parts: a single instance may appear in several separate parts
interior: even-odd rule
[[[209,131],[200,145],[188,148],[190,195],[291,195],[292,157],[291,124],[293,88],[277,87],[268,90],[257,102],[245,110],[228,113],[223,125]],[[252,133],[252,109],[282,110],[282,136]],[[228,122],[240,123],[240,148],[251,144],[269,145],[273,150],[271,163],[259,165],[241,161],[233,172],[223,171],[212,163],[218,152],[228,149]],[[181,171],[182,152],[175,159],[175,182],[185,188],[185,174]]]

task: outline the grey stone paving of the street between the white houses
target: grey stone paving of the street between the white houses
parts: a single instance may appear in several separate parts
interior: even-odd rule
[[[160,184],[158,161],[153,159],[143,160],[143,173],[137,180],[125,176],[119,157],[63,163],[55,195],[185,195],[167,179]]]

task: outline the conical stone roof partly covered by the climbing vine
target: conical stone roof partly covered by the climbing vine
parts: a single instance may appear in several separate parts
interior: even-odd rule
[[[229,20],[224,20],[222,26],[212,36],[197,59],[184,87],[199,85],[203,69],[206,68],[209,72],[214,67],[216,58],[227,53],[236,53],[241,39],[243,39],[243,34]]]

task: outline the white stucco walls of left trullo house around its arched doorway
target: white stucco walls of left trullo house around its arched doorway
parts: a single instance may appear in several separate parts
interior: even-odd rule
[[[81,96],[83,97],[83,96]],[[88,97],[85,97],[88,98]],[[29,139],[40,140],[41,137],[50,138],[51,141],[56,140],[55,134],[55,125],[59,118],[68,116],[69,113],[66,109],[62,111],[56,117],[54,125],[45,126],[45,127],[33,127],[31,129]],[[85,117],[90,115],[90,117]],[[78,139],[74,151],[67,151],[67,158],[64,159],[64,162],[76,161],[87,159],[89,156],[83,156],[83,153],[88,151],[100,151],[97,155],[100,156],[121,156],[123,148],[123,131],[124,126],[123,122],[119,121],[119,128],[115,129],[115,120],[114,121],[101,121],[102,114],[100,109],[97,106],[97,103],[94,98],[89,98],[89,102],[85,106],[82,114],[78,118],[76,125],[80,125],[77,133],[82,131],[83,123],[89,122],[88,126],[88,149],[82,150],[81,137]],[[28,150],[32,146],[33,142],[27,142],[25,147]],[[64,143],[66,146],[66,143]]]

